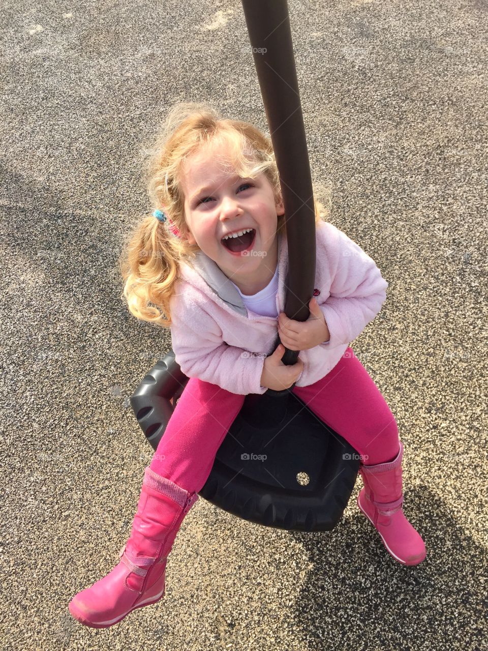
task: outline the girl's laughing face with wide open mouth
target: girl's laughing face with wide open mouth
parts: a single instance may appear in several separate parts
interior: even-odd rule
[[[266,176],[241,178],[223,171],[208,149],[187,160],[182,185],[188,242],[197,243],[237,286],[239,280],[248,288],[250,282],[269,282],[277,265],[277,223],[284,206],[275,203]],[[230,240],[234,251],[223,243],[227,234],[247,229],[250,234]]]

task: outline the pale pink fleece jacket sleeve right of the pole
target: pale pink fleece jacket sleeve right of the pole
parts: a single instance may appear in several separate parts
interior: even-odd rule
[[[342,230],[328,224],[321,238],[331,270],[331,296],[320,305],[331,348],[349,344],[381,310],[388,283],[374,260]]]

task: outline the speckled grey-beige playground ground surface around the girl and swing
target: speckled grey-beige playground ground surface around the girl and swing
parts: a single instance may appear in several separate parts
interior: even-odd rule
[[[130,532],[152,452],[129,396],[170,348],[120,300],[142,147],[178,101],[267,122],[237,0],[3,2],[3,649],[488,648],[488,4],[289,8],[314,184],[390,283],[352,346],[396,416],[427,559],[386,553],[360,478],[331,533],[200,499],[161,602],[72,620]]]

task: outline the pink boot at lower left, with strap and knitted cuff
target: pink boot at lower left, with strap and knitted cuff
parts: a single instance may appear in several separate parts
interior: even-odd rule
[[[165,594],[166,559],[197,499],[197,493],[187,492],[147,467],[121,561],[72,598],[69,609],[74,618],[85,626],[107,628],[136,608],[159,601]]]

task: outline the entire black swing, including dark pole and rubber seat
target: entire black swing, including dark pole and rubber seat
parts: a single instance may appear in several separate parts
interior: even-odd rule
[[[290,215],[284,312],[305,321],[314,290],[316,227],[288,5],[286,0],[242,0],[242,4],[285,211]],[[279,343],[277,337],[273,350]],[[294,364],[298,355],[287,348],[282,361]],[[154,450],[188,380],[170,350],[131,396],[131,407]],[[331,531],[351,497],[359,454],[292,393],[294,386],[246,396],[199,495],[256,524]],[[249,454],[242,458],[248,450],[251,458]]]

